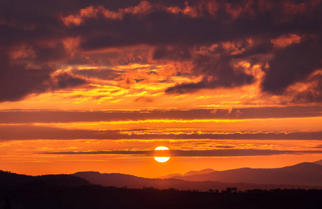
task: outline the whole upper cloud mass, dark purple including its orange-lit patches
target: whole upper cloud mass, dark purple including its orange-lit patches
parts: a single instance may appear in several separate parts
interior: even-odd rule
[[[311,77],[322,67],[320,1],[17,0],[1,1],[0,11],[1,102],[94,78],[122,88],[169,84],[159,88],[168,94],[258,84],[292,103],[321,102],[321,77]],[[114,71],[134,63],[172,72]],[[57,75],[63,68],[74,70]],[[316,85],[290,94],[299,82]]]

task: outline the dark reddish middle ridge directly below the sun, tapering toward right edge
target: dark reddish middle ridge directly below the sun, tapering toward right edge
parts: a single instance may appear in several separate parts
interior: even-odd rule
[[[103,185],[105,187],[127,187],[127,188],[143,188],[154,187],[156,189],[180,189],[180,190],[200,190],[208,191],[209,189],[218,189],[219,191],[227,187],[237,187],[242,191],[247,189],[322,189],[322,187],[309,187],[304,185],[259,185],[252,183],[223,183],[218,181],[189,181],[175,178],[159,179],[159,178],[142,178],[137,176],[126,175],[122,173],[99,173],[94,171],[78,172],[72,174],[80,178],[85,178],[95,185]]]

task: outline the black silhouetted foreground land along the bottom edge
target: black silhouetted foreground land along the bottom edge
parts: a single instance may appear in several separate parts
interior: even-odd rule
[[[322,190],[193,192],[98,185],[0,187],[0,208],[322,208]]]

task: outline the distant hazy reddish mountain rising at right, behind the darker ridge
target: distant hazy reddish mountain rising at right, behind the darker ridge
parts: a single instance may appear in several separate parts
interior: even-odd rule
[[[322,165],[303,162],[278,169],[242,168],[192,176],[173,176],[173,178],[192,181],[322,186]]]

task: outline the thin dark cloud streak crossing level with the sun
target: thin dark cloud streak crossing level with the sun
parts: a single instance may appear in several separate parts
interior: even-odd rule
[[[171,157],[237,157],[263,155],[303,155],[322,153],[321,150],[257,150],[257,149],[218,149],[218,150],[169,150]],[[154,156],[154,150],[112,150],[112,151],[71,151],[41,153],[49,155],[147,155]],[[164,155],[164,156],[169,156]]]

